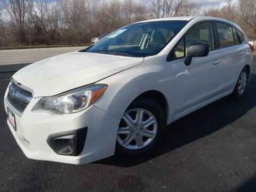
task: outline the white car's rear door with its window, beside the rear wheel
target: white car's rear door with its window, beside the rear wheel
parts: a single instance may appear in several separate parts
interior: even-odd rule
[[[239,44],[234,27],[226,23],[216,22],[221,63],[217,65],[220,84],[218,90],[224,94],[234,89],[239,75],[239,63],[243,55],[243,45]],[[235,75],[236,74],[236,75]]]

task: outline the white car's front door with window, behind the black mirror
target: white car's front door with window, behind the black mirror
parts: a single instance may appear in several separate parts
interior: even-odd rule
[[[207,57],[193,57],[186,66],[184,57],[190,44],[204,42],[210,44]],[[218,71],[215,64],[220,61],[221,51],[215,49],[213,22],[198,23],[191,28],[172,50],[175,71],[175,116],[186,115],[199,108],[204,102],[216,96]]]

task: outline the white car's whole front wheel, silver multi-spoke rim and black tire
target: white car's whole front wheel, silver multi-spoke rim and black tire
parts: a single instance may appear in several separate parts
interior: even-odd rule
[[[131,103],[119,123],[116,150],[125,155],[145,153],[155,147],[166,127],[162,107],[150,99]]]

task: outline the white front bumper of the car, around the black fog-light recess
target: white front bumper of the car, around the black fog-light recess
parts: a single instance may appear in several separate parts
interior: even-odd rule
[[[7,106],[12,111],[15,110],[6,99],[7,91],[4,97],[6,113]],[[21,116],[15,114],[17,131],[7,119],[15,140],[28,158],[85,164],[114,155],[120,121],[118,118],[93,105],[79,113],[56,115],[50,111],[33,109],[38,101],[38,98],[33,99]],[[82,127],[87,127],[87,136],[82,153],[77,156],[59,155],[47,143],[52,134],[74,131]]]

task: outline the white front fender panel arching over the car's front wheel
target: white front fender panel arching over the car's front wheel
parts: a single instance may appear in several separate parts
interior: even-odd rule
[[[159,91],[167,100],[167,124],[171,123],[174,121],[175,111],[175,77],[172,64],[164,61],[165,59],[161,56],[145,58],[141,65],[97,82],[108,84],[109,87],[94,105],[121,119],[127,107],[140,94],[151,90]]]

